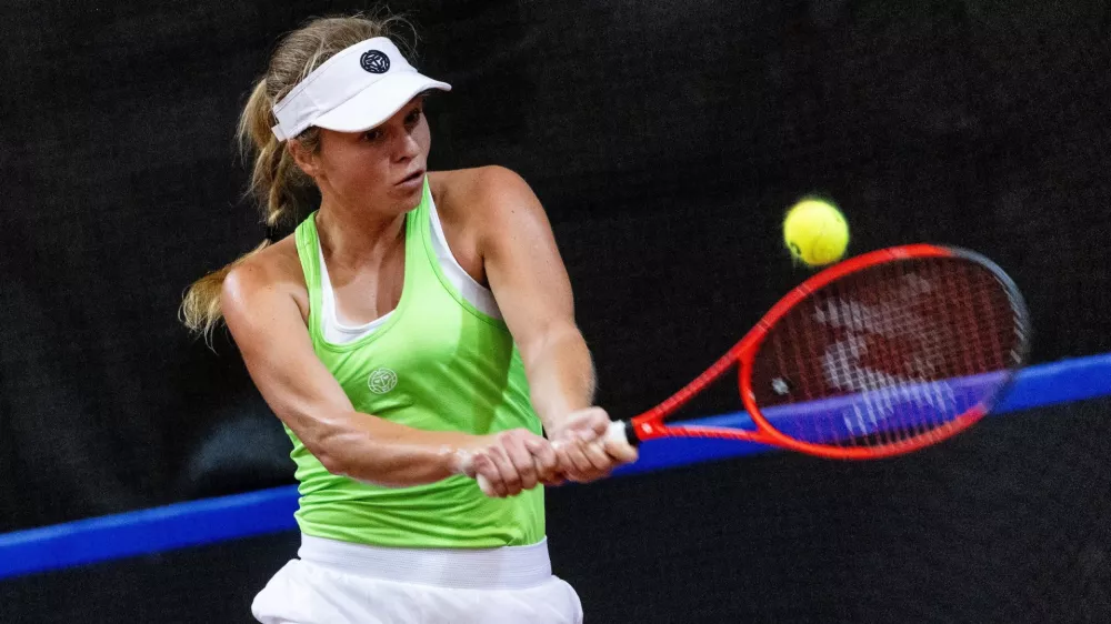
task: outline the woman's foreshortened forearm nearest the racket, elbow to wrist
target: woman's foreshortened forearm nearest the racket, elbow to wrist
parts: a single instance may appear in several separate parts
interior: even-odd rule
[[[548,432],[593,404],[594,366],[578,329],[552,333],[528,354],[526,370],[532,406]]]

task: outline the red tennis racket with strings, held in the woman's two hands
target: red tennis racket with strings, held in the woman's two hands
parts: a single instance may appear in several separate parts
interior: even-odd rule
[[[1027,359],[1011,279],[962,249],[913,244],[813,275],[705,372],[608,437],[710,437],[838,460],[900,455],[982,419]],[[748,429],[668,424],[737,366]]]

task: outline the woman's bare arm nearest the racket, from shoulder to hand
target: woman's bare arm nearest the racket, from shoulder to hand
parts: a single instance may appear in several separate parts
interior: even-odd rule
[[[532,405],[568,476],[590,481],[635,460],[627,445],[591,444],[609,415],[593,406],[594,370],[574,322],[571,281],[536,193],[503,168],[478,173],[471,205],[482,219],[479,251],[490,289],[521,352]]]

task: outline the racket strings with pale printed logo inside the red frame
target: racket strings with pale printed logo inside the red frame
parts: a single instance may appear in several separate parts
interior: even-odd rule
[[[903,444],[997,393],[1017,363],[1017,323],[1009,289],[975,262],[877,265],[815,291],[773,325],[753,361],[753,392],[769,424],[797,440]]]

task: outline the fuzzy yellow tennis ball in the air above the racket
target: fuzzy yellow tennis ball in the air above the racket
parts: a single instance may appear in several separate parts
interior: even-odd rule
[[[828,201],[803,199],[787,211],[783,242],[809,266],[837,262],[849,246],[849,223]]]

